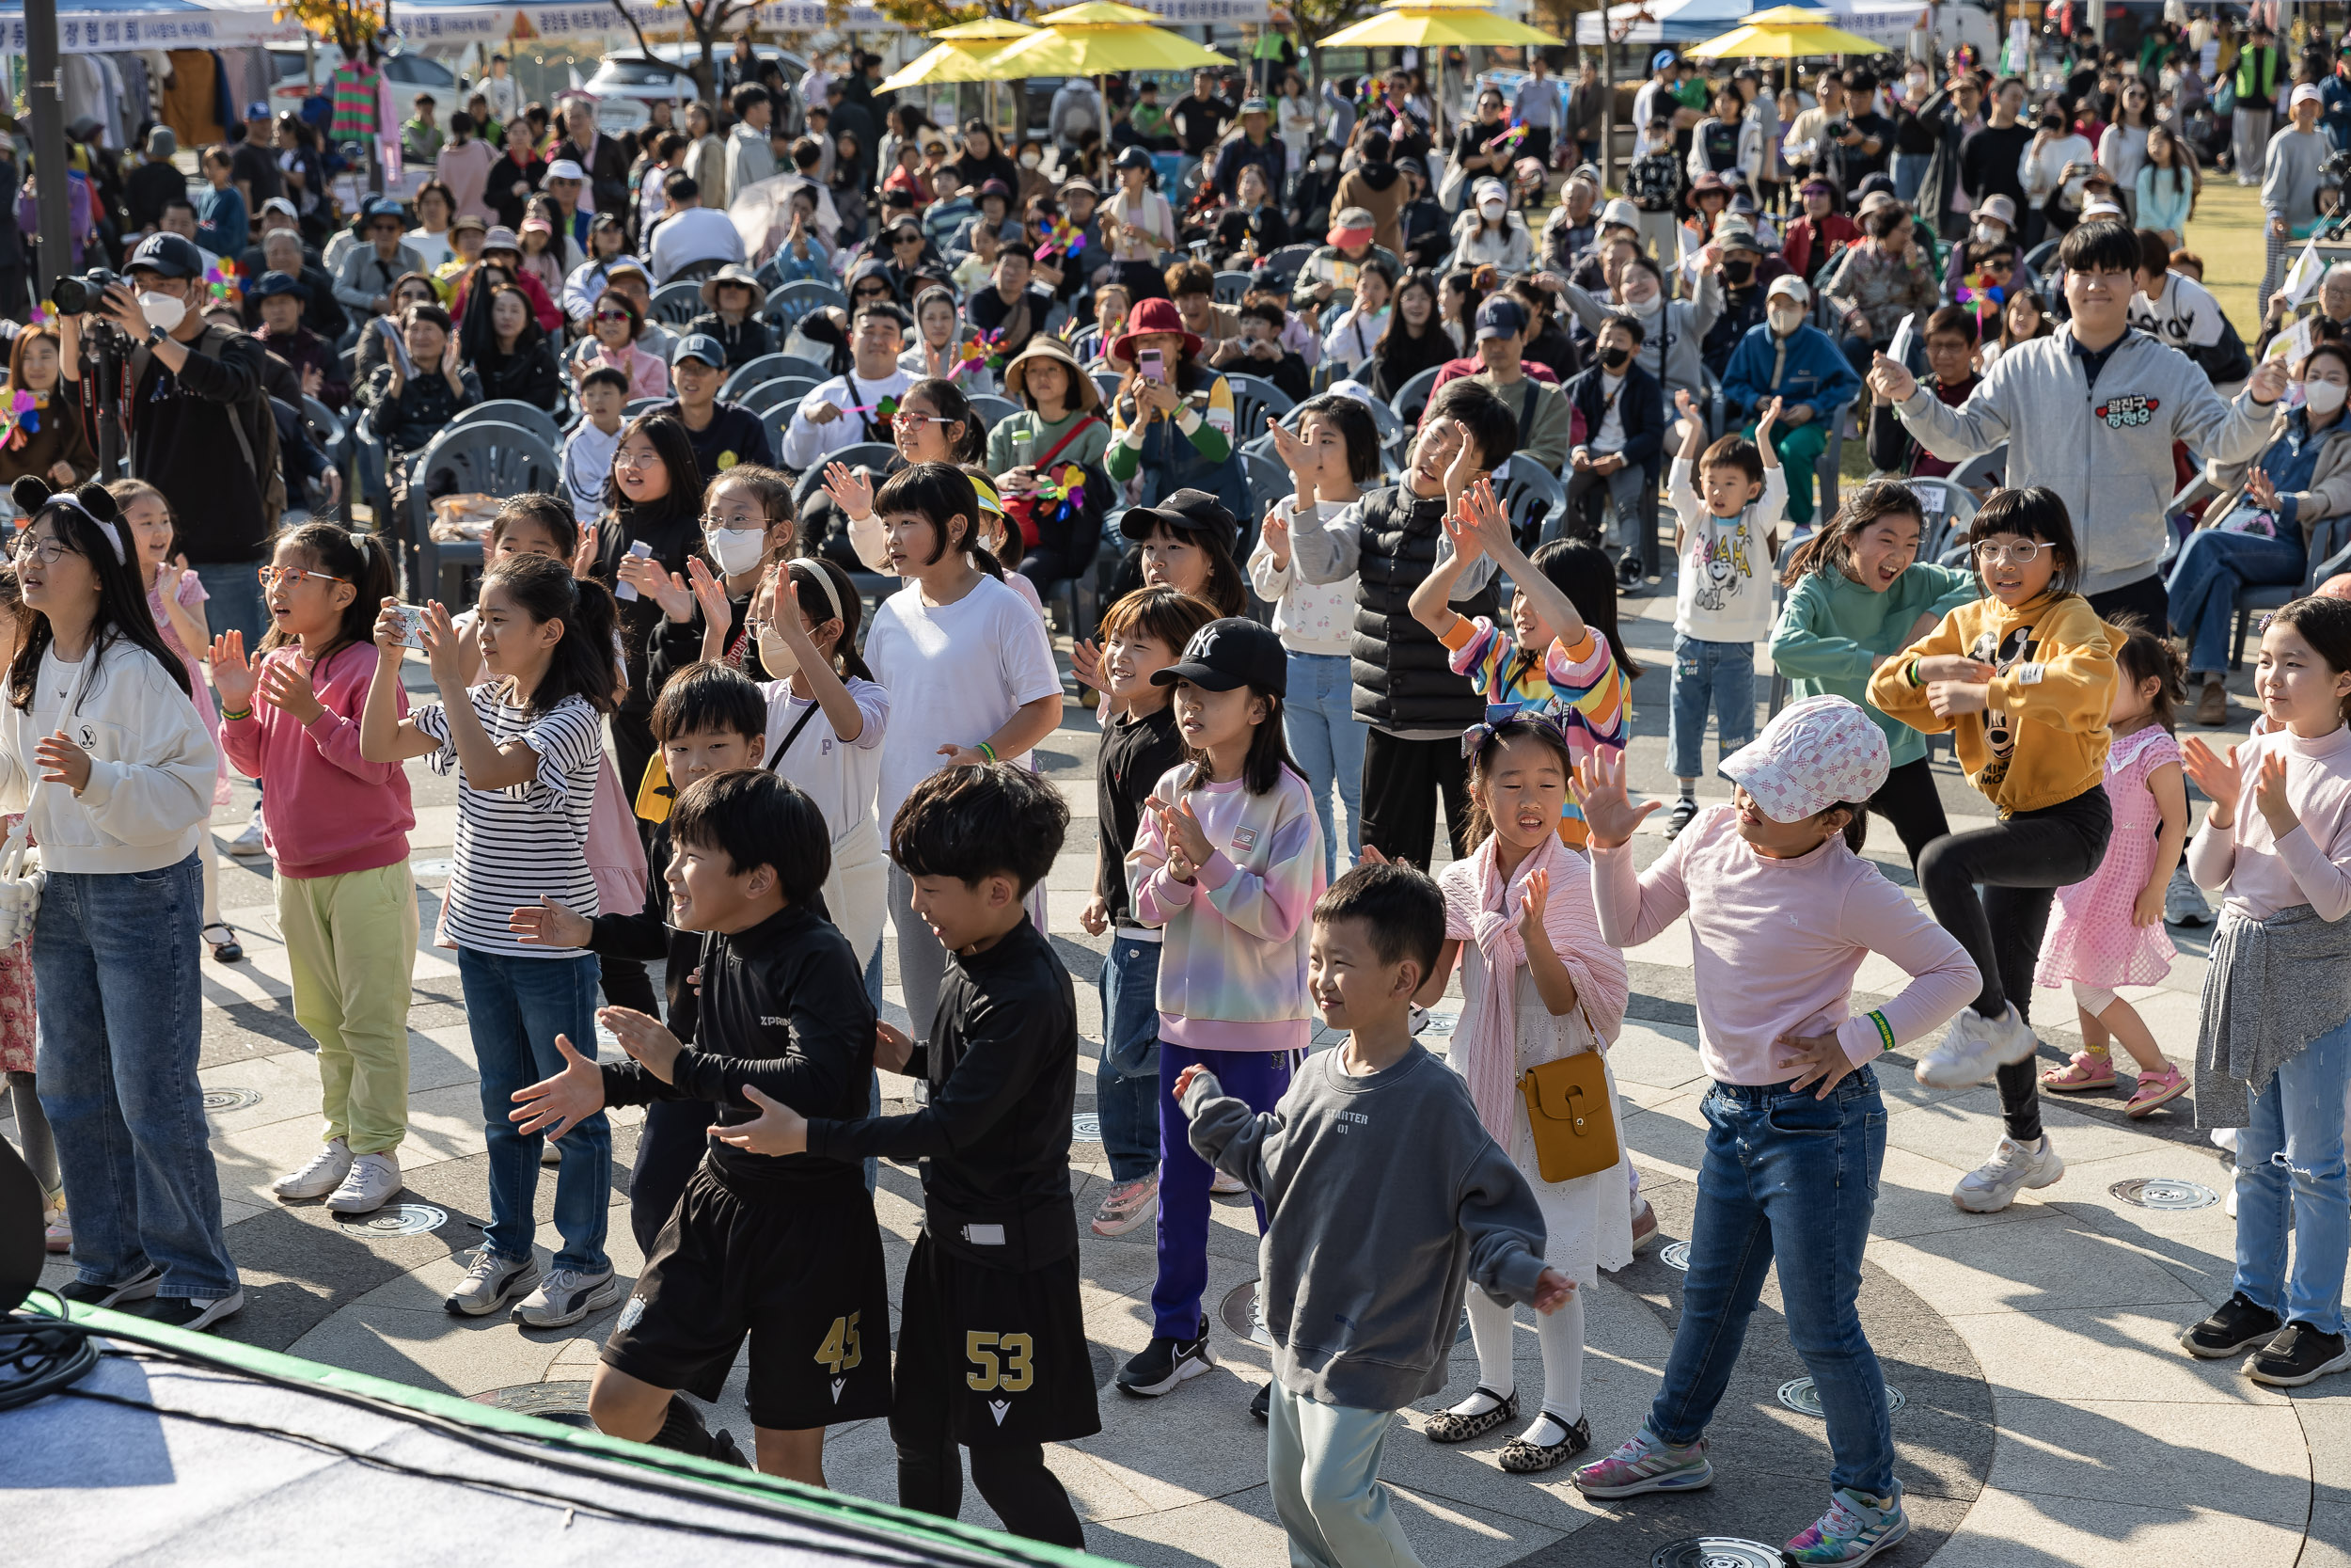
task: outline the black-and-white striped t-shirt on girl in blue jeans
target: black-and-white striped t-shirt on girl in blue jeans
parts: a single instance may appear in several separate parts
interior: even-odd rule
[[[465,691],[494,745],[522,741],[538,752],[538,771],[505,790],[465,783],[449,743],[449,715],[423,703],[409,719],[442,743],[426,757],[435,773],[456,773],[456,870],[449,872],[442,924],[458,947],[515,959],[576,959],[571,947],[524,947],[505,929],[522,905],[545,893],[574,914],[600,914],[588,872],[588,816],[595,811],[597,769],[604,764],[604,722],[576,696],[538,717],[498,701],[503,682]]]

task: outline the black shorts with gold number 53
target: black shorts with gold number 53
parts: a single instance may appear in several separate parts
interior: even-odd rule
[[[990,1269],[924,1232],[898,1314],[898,1443],[952,1436],[969,1448],[1093,1436],[1093,1354],[1077,1253],[1039,1269]]]

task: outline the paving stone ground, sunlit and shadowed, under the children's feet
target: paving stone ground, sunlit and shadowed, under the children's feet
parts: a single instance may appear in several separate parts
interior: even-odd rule
[[[1627,637],[1646,672],[1634,684],[1634,783],[1672,790],[1665,771],[1667,651],[1672,597],[1629,599]],[[2236,691],[2248,691],[2238,677]],[[2250,710],[2236,712],[2245,731]],[[1049,882],[1053,943],[1079,983],[1081,1027],[1098,1037],[1096,938],[1077,926],[1091,889],[1093,715],[1067,703],[1041,762],[1070,795],[1072,832]],[[1712,750],[1709,750],[1712,762]],[[1954,818],[1989,816],[1949,762],[1937,783]],[[411,769],[418,830],[414,865],[426,900],[426,933],[447,879],[454,790]],[[1702,795],[1726,785],[1709,780]],[[216,816],[226,842],[242,825],[252,790]],[[1641,842],[1641,858],[1662,837]],[[1881,823],[1869,853],[1911,882],[1893,832]],[[245,929],[249,959],[205,964],[207,1091],[219,1091],[214,1152],[221,1166],[230,1251],[245,1274],[247,1307],[228,1338],[287,1349],[421,1387],[531,1406],[578,1406],[597,1345],[614,1312],[574,1328],[531,1333],[494,1319],[456,1319],[440,1298],[461,1274],[458,1255],[480,1241],[487,1218],[482,1112],[451,954],[426,945],[416,966],[411,1027],[414,1131],[402,1150],[404,1204],[442,1220],[416,1234],[376,1234],[336,1222],[317,1204],[277,1204],[268,1182],[296,1166],[317,1140],[317,1074],[310,1041],[294,1023],[284,950],[270,914],[268,863],[223,863],[221,903]],[[2205,931],[2175,931],[2179,961],[2161,987],[2130,994],[2175,1056],[2193,1056],[2193,1009],[2203,980]],[[426,936],[430,943],[430,936]],[[1704,1079],[1695,1051],[1690,940],[1676,926],[1627,954],[1632,1011],[1613,1051],[1625,1093],[1625,1135],[1655,1201],[1665,1241],[1688,1234],[1702,1143],[1697,1103]],[[1888,994],[1900,976],[1864,964],[1860,990]],[[905,1023],[896,964],[889,1016]],[[2057,992],[2036,997],[2050,1060],[2078,1039]],[[1324,1041],[1328,1044],[1328,1041]],[[609,1048],[609,1046],[607,1046]],[[1093,1063],[1081,1063],[1079,1114],[1093,1110]],[[2024,1194],[1998,1215],[1951,1206],[1949,1187],[1998,1140],[1991,1088],[1918,1088],[1907,1053],[1878,1065],[1890,1131],[1874,1241],[1864,1262],[1862,1319],[1902,1392],[1893,1420],[1900,1476],[1916,1535],[1890,1563],[1937,1568],[2189,1566],[2351,1568],[2351,1380],[2297,1394],[2262,1389],[2231,1363],[2191,1361],[2172,1342],[2182,1324],[2229,1295],[2233,1222],[2219,1206],[2135,1208],[2111,1187],[2130,1178],[2184,1178],[2222,1187],[2215,1150],[2193,1131],[2191,1100],[2146,1124],[2125,1121],[2121,1095],[2062,1103],[2045,1121],[2069,1161],[2062,1182]],[[907,1093],[884,1079],[884,1095]],[[637,1112],[616,1114],[611,1253],[621,1274],[642,1265],[628,1227],[628,1164]],[[1107,1166],[1098,1143],[1077,1143],[1074,1185],[1091,1215]],[[552,1237],[552,1180],[541,1182],[541,1239]],[[884,1166],[879,1215],[896,1274],[919,1218],[910,1168]],[[430,1218],[430,1215],[428,1215]],[[1211,1232],[1208,1307],[1218,1371],[1159,1401],[1124,1399],[1110,1387],[1119,1361],[1150,1335],[1150,1229],[1124,1239],[1086,1234],[1081,1274],[1086,1331],[1103,1385],[1103,1434],[1053,1450],[1056,1472],[1086,1516],[1089,1547],[1103,1556],[1161,1566],[1274,1568],[1288,1561],[1265,1488],[1262,1427],[1248,1396],[1267,1378],[1267,1352],[1246,1338],[1246,1286],[1255,1274],[1248,1204],[1223,1201]],[[68,1279],[49,1269],[49,1284]],[[1641,1420],[1672,1342],[1681,1274],[1660,1251],[1603,1276],[1589,1302],[1585,1410],[1601,1448]],[[1234,1331],[1239,1321],[1244,1331]],[[1519,1324],[1519,1382],[1540,1387],[1533,1326]],[[1636,1568],[1657,1547],[1693,1535],[1777,1544],[1803,1528],[1827,1490],[1827,1443],[1817,1418],[1787,1408],[1780,1387],[1803,1375],[1766,1288],[1744,1359],[1712,1429],[1719,1481],[1686,1497],[1636,1497],[1594,1507],[1566,1472],[1509,1476],[1498,1455],[1509,1432],[1483,1443],[1439,1448],[1420,1436],[1427,1413],[1474,1382],[1467,1338],[1455,1349],[1446,1396],[1404,1413],[1385,1474],[1406,1530],[1429,1563]],[[741,1368],[712,1420],[750,1448]],[[893,1497],[893,1458],[879,1422],[835,1429],[828,1476],[837,1488]],[[976,1490],[966,1519],[994,1523]]]

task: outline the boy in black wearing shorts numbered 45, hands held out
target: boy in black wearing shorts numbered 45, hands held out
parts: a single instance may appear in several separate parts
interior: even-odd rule
[[[719,1107],[724,1131],[755,1117],[745,1095],[863,1114],[875,1009],[849,938],[823,917],[823,811],[764,769],[734,769],[677,797],[670,844],[670,919],[708,933],[696,1046],[602,1009],[632,1060],[600,1070],[557,1034],[564,1070],[515,1091],[515,1121],[562,1138],[604,1105],[694,1098]],[[856,1159],[710,1145],[604,1342],[588,1415],[614,1436],[731,1458],[672,1389],[717,1399],[745,1333],[759,1469],[823,1486],[825,1427],[891,1406],[889,1276]]]

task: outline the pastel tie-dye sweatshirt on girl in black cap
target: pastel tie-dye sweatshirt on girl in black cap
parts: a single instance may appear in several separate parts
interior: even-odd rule
[[[1187,1051],[1302,1051],[1314,1039],[1307,999],[1310,914],[1324,891],[1321,825],[1298,773],[1265,795],[1241,780],[1187,790],[1192,764],[1166,771],[1154,795],[1192,802],[1208,860],[1192,882],[1166,870],[1152,813],[1126,856],[1136,919],[1164,926],[1159,1039]]]

